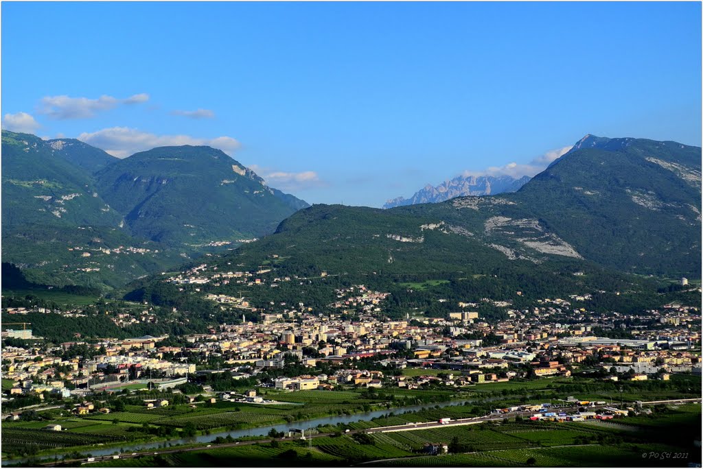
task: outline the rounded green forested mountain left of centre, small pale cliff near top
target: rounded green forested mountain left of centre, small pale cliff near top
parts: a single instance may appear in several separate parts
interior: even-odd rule
[[[98,171],[96,180],[134,234],[172,245],[260,237],[304,204],[277,196],[211,147],[140,152]]]

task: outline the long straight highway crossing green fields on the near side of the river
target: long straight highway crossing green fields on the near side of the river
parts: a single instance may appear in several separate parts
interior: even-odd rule
[[[665,400],[665,401],[648,401],[648,402],[642,402],[642,404],[683,404],[685,402],[700,402],[702,398],[695,398],[695,399],[670,399],[670,400]],[[628,402],[626,403],[628,405],[634,405],[633,402]],[[610,407],[612,404],[601,404],[593,407],[588,407],[589,411],[591,410],[598,410],[602,409],[604,407]],[[560,412],[574,412],[579,409],[579,407],[583,406],[569,406],[569,407],[555,407],[555,410],[558,410]],[[523,414],[531,414],[531,412],[526,412],[526,411],[512,411],[508,412],[507,414],[500,414],[499,416],[496,416],[495,414],[493,415],[487,415],[483,417],[472,417],[472,418],[459,418],[457,420],[452,420],[449,423],[438,423],[438,422],[418,422],[418,423],[408,423],[405,425],[391,425],[387,427],[376,427],[376,428],[365,428],[363,430],[349,430],[348,432],[345,432],[344,435],[354,435],[354,433],[361,433],[361,432],[366,432],[366,433],[383,433],[383,432],[403,432],[403,431],[408,431],[408,430],[424,430],[427,428],[440,428],[440,427],[446,427],[446,426],[456,426],[456,425],[476,425],[478,423],[484,423],[484,422],[489,422],[489,421],[503,421],[504,418],[515,418],[515,416],[520,416]],[[317,433],[316,435],[311,435],[307,438],[318,438],[318,437],[329,437],[331,435],[334,435],[332,432],[326,432],[326,433]],[[174,454],[174,453],[183,453],[183,452],[189,452],[189,451],[202,451],[204,449],[218,449],[218,448],[231,448],[231,447],[238,447],[238,446],[246,446],[248,444],[258,444],[258,443],[270,443],[273,442],[274,440],[276,441],[288,441],[288,440],[297,440],[297,437],[285,437],[285,438],[263,438],[262,440],[250,440],[246,442],[233,442],[233,443],[221,443],[221,444],[207,444],[207,446],[198,446],[198,447],[192,447],[192,448],[181,448],[181,449],[157,449],[156,451],[138,451],[134,453],[128,453],[128,454],[120,454],[119,459],[129,459],[129,458],[138,458],[140,456],[155,456],[157,454]],[[53,467],[56,465],[79,465],[79,464],[86,464],[86,463],[97,463],[98,461],[110,461],[112,459],[116,459],[114,456],[100,456],[96,458],[91,458],[93,461],[88,461],[89,458],[79,458],[79,459],[68,459],[64,461],[57,461],[57,462],[47,462],[47,463],[41,463],[38,464],[39,466],[44,466],[44,467]]]

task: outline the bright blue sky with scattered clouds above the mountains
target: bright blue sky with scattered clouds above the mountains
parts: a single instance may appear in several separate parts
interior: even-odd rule
[[[534,173],[586,133],[701,145],[699,2],[1,8],[3,128],[213,145],[311,203]]]

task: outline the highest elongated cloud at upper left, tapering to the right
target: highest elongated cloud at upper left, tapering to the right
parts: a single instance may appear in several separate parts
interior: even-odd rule
[[[71,98],[67,95],[44,96],[39,102],[37,112],[57,120],[89,119],[98,112],[113,109],[121,104],[145,103],[148,100],[149,95],[146,93],[132,95],[122,100],[108,95],[102,95],[96,99]]]

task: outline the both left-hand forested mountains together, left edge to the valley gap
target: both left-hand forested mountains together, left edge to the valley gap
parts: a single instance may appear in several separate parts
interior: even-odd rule
[[[113,287],[261,237],[308,206],[211,147],[117,159],[2,131],[3,260],[32,281]]]

